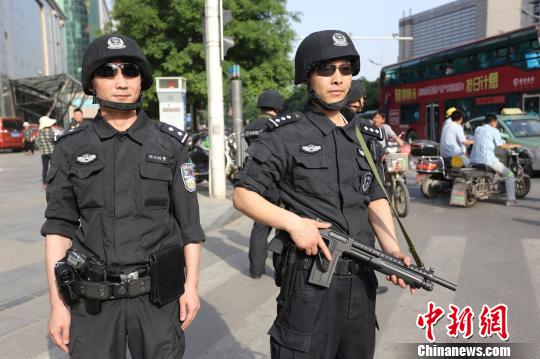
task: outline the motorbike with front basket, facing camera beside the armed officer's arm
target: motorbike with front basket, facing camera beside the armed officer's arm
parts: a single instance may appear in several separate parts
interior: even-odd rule
[[[408,145],[400,148],[397,143],[389,142],[385,148],[384,186],[398,216],[405,217],[409,213],[410,195],[405,181],[408,169],[410,148]]]

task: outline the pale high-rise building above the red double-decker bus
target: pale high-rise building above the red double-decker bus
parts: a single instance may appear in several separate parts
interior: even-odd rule
[[[516,30],[539,21],[538,2],[531,0],[457,0],[399,20],[398,61]]]

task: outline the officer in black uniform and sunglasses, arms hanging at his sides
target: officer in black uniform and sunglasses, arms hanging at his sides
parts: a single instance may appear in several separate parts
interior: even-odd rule
[[[133,358],[182,357],[183,331],[200,307],[198,267],[205,236],[184,146],[187,134],[150,120],[140,108],[141,91],[152,81],[134,40],[97,38],[83,57],[82,84],[100,111],[94,121],[56,139],[41,233],[46,236],[49,333],[73,358],[124,358],[126,345]],[[55,264],[66,251],[77,253],[66,261],[85,273],[91,269],[87,262],[94,263],[92,273],[99,269],[96,263],[104,264],[102,282],[82,282],[77,274],[72,290],[81,298],[69,309],[55,282]],[[153,273],[152,267],[149,273],[151,258],[161,265],[163,253],[172,258],[166,262],[171,270],[183,268],[183,259],[185,285],[180,297],[169,293],[173,299],[156,305],[150,301],[148,278],[169,280],[170,286],[158,287],[157,297],[184,283],[175,271],[160,267]]]

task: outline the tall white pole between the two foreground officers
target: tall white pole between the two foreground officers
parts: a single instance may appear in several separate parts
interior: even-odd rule
[[[208,134],[210,137],[210,196],[225,199],[225,132],[220,41],[221,1],[205,0],[206,76],[208,84]]]

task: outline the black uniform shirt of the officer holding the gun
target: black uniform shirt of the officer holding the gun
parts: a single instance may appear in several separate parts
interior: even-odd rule
[[[368,143],[376,142],[380,131],[357,117],[348,120],[346,126],[338,127],[312,106],[303,113],[268,120],[268,128],[249,147],[235,186],[262,195],[276,184],[286,209],[328,221],[373,246],[367,206],[384,198],[384,193],[355,129],[362,131]]]

